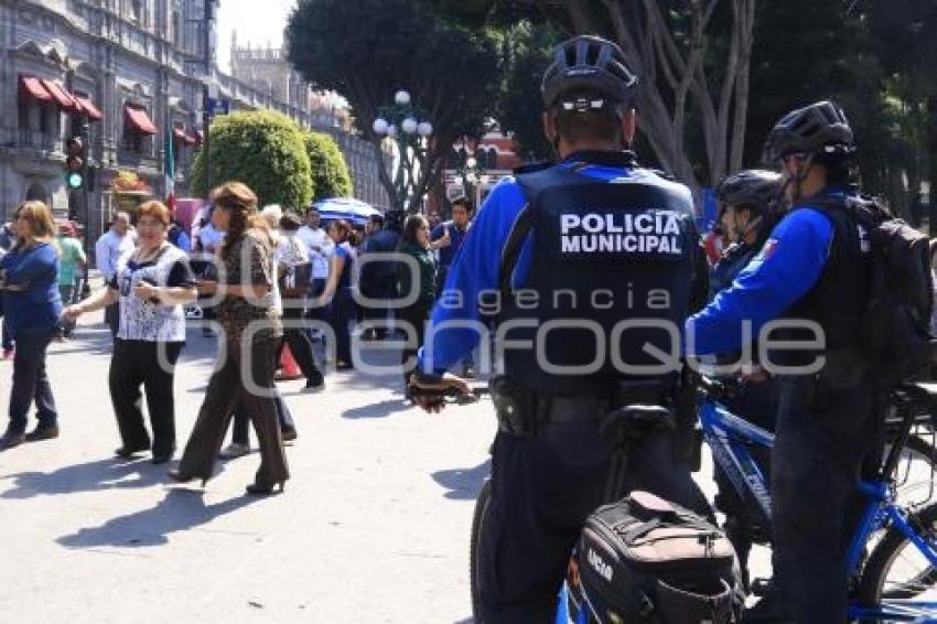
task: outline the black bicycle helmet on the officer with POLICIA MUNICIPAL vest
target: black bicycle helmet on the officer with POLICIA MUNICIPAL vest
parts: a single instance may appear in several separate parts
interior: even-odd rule
[[[561,95],[572,92],[597,93],[616,104],[629,104],[637,82],[617,44],[582,35],[556,47],[540,90],[546,108],[553,106]]]

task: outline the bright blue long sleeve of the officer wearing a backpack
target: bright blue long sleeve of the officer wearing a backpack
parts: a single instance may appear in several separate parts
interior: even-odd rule
[[[751,321],[751,338],[779,318],[820,279],[833,228],[816,208],[798,208],[775,226],[761,252],[732,286],[687,320],[685,348],[694,355],[733,353],[742,346],[742,324]]]

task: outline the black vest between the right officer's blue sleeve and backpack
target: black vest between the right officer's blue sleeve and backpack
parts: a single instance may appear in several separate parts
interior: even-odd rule
[[[793,209],[808,207],[820,209],[832,225],[829,259],[814,288],[787,310],[785,318],[817,322],[826,334],[827,349],[859,347],[871,281],[869,233],[834,195],[805,200]]]

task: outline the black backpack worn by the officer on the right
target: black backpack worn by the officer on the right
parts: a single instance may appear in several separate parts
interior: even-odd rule
[[[882,388],[892,388],[934,365],[930,320],[934,283],[929,239],[866,196],[830,197],[865,230],[871,247],[869,303],[862,312],[861,347]]]

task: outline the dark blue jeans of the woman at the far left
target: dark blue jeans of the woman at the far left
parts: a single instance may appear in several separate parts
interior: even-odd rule
[[[35,400],[40,428],[58,422],[52,386],[45,373],[45,349],[52,342],[52,329],[24,330],[17,333],[17,355],[13,358],[13,387],[10,390],[9,431],[26,430],[30,405]]]

